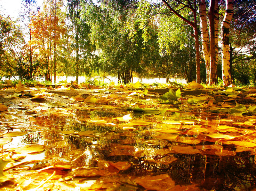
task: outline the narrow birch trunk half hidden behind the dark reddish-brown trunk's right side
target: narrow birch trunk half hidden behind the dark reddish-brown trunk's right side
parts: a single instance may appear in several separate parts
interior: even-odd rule
[[[217,65],[219,57],[219,0],[215,0],[214,6],[214,36],[215,36],[215,65],[216,65],[216,80],[217,77]]]

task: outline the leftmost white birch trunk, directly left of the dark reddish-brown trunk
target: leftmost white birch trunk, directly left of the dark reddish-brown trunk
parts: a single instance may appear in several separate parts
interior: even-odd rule
[[[201,37],[202,37],[202,51],[203,51],[204,62],[206,67],[206,84],[209,84],[210,46],[209,46],[209,31],[208,31],[208,24],[207,24],[205,0],[201,0],[199,3],[199,14],[200,14]]]

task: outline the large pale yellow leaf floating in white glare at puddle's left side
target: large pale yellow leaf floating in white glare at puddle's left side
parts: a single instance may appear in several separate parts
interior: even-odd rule
[[[9,151],[13,151],[16,154],[37,154],[44,151],[45,147],[40,144],[26,145],[24,147],[11,148]]]

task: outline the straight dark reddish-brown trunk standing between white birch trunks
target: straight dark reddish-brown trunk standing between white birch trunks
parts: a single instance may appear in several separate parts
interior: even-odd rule
[[[210,79],[209,85],[216,84],[216,62],[215,62],[215,24],[214,24],[215,0],[211,0],[209,9],[210,28]]]

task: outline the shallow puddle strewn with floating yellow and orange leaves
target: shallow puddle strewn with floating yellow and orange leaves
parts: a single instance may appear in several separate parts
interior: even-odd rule
[[[148,124],[130,126],[113,119],[125,114]],[[26,135],[12,137],[4,144],[3,154],[26,156],[22,162],[41,161],[28,164],[35,169],[62,161],[73,169],[68,175],[75,180],[82,177],[77,184],[85,187],[105,183],[119,190],[145,190],[149,188],[143,181],[160,176],[163,184],[172,180],[175,190],[252,190],[256,182],[255,130],[249,123],[245,126],[237,123],[239,118],[236,122],[231,118],[221,121],[215,114],[189,108],[187,112],[158,115],[98,108],[72,116],[1,119],[2,133],[8,128],[27,130]],[[224,136],[218,137],[220,132]],[[232,136],[241,139],[234,141]],[[9,148],[35,144],[43,145],[44,151],[8,152]],[[159,190],[166,190],[165,186],[159,185]]]

